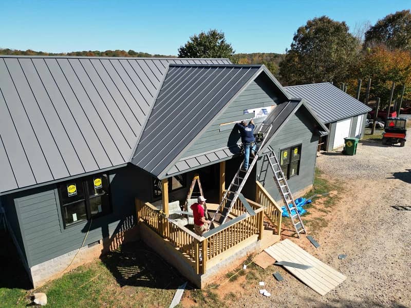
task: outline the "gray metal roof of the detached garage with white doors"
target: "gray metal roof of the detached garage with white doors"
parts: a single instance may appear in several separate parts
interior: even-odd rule
[[[294,98],[304,98],[323,123],[354,117],[371,110],[328,82],[285,89]]]

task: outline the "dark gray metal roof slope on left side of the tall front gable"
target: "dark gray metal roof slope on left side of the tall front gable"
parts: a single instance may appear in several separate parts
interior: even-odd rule
[[[161,178],[261,66],[171,65],[132,162]]]

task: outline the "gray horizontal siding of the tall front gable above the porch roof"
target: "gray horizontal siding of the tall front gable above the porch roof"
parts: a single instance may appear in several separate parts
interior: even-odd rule
[[[246,109],[267,107],[278,103],[279,99],[274,91],[274,85],[264,78],[264,74],[260,74],[247,88],[238,94],[237,98],[230,103],[228,108],[213,122],[207,131],[183,153],[182,157],[198,155],[225,146],[234,146],[240,139],[239,133],[234,132],[236,140],[230,139],[229,143],[234,124],[231,126],[232,129],[224,131],[220,131],[220,124],[249,119],[250,114],[244,114]]]

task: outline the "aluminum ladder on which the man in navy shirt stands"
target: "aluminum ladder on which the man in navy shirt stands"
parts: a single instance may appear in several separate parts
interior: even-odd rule
[[[218,206],[216,212],[214,213],[214,216],[211,222],[215,221],[215,218],[217,217],[217,214],[219,213],[221,209],[222,209],[222,213],[221,213],[220,219],[218,220],[218,223],[221,225],[226,222],[231,209],[233,208],[235,202],[237,201],[238,195],[240,194],[242,188],[246,184],[247,179],[250,176],[255,163],[257,162],[257,159],[259,157],[259,151],[260,149],[263,148],[263,145],[266,142],[266,137],[268,136],[271,130],[271,127],[272,127],[272,124],[269,124],[269,125],[262,124],[260,126],[257,133],[263,133],[264,137],[263,137],[263,141],[261,141],[261,144],[258,146],[258,149],[256,149],[255,151],[253,161],[249,163],[248,170],[245,171],[244,169],[242,169],[242,166],[244,165],[244,159],[242,160],[240,167],[238,168],[233,180],[230,183],[230,186],[228,187],[224,196],[222,197],[221,203]]]

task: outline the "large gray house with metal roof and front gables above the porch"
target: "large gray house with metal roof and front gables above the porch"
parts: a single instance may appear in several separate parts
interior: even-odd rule
[[[251,118],[271,119],[266,151],[285,158],[295,195],[312,187],[328,130],[265,66],[1,56],[0,202],[33,285],[135,240],[136,198],[182,205],[199,174],[219,203],[221,174],[230,180],[242,159],[234,123]],[[255,181],[279,200],[264,157],[243,191],[250,200]]]

